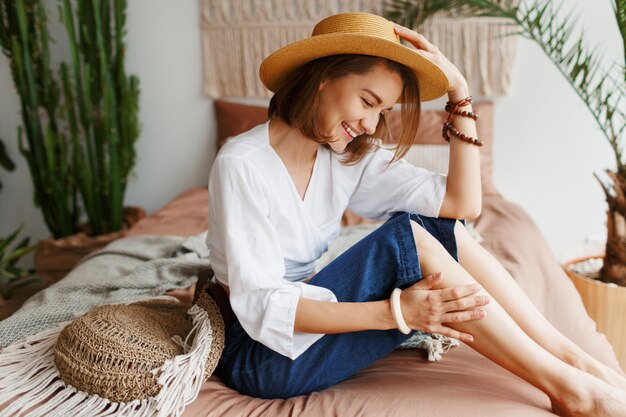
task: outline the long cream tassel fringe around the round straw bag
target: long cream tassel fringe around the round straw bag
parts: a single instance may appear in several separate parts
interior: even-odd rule
[[[127,403],[79,391],[60,379],[54,365],[54,344],[63,328],[72,321],[4,348],[0,351],[0,417],[180,416],[200,392],[213,343],[207,312],[194,305],[188,314],[193,323],[191,331],[184,341],[180,336],[174,337],[185,353],[151,371],[159,375],[162,389],[155,397]]]

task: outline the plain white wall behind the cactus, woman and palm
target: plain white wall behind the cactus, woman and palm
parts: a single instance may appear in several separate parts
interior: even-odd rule
[[[58,40],[53,50],[67,56],[56,2],[47,3]],[[611,2],[564,4],[578,10],[605,62],[622,62]],[[201,89],[198,1],[132,0],[127,28],[127,70],[141,80],[142,131],[126,203],[152,213],[183,190],[204,185],[215,156],[213,106]],[[606,204],[592,173],[613,166],[610,148],[565,79],[528,40],[520,39],[511,91],[495,98],[495,110],[494,179],[502,194],[530,213],[557,255],[587,236],[603,236]],[[0,236],[23,222],[25,235],[37,240],[48,232],[17,151],[18,112],[8,62],[0,55],[0,138],[17,164],[13,173],[0,170]]]

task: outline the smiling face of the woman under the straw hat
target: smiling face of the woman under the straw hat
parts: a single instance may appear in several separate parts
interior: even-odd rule
[[[333,151],[341,153],[362,134],[374,134],[381,114],[398,101],[402,88],[400,75],[384,65],[364,74],[324,80],[319,87],[315,127],[331,138]]]

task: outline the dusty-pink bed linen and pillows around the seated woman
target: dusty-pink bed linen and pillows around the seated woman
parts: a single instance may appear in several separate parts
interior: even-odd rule
[[[265,118],[263,107],[217,101],[215,110],[218,147]],[[482,238],[481,244],[500,260],[555,327],[592,356],[619,369],[608,341],[595,331],[541,232],[522,208],[495,188],[491,179],[493,104],[479,103],[475,110],[481,117],[479,137],[487,143],[481,149],[483,209],[470,223]],[[438,111],[423,113],[419,139],[409,158],[422,158],[416,163],[431,166],[442,161],[447,146],[439,137],[444,117],[445,113]],[[398,123],[397,117],[390,121],[392,132]],[[128,235],[196,235],[207,228],[207,210],[207,189],[191,188],[139,221]],[[342,219],[345,228],[369,223],[349,212]],[[164,293],[189,302],[193,291],[191,285]],[[552,413],[545,394],[464,344],[437,362],[428,361],[422,350],[396,350],[333,387],[287,400],[241,395],[213,375],[183,413],[185,417],[407,415],[534,417]]]

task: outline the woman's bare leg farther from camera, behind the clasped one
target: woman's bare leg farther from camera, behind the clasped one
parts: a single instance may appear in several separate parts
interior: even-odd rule
[[[460,222],[455,227],[459,263],[480,282],[535,342],[562,361],[626,390],[626,378],[561,334],[541,314],[506,269]]]

